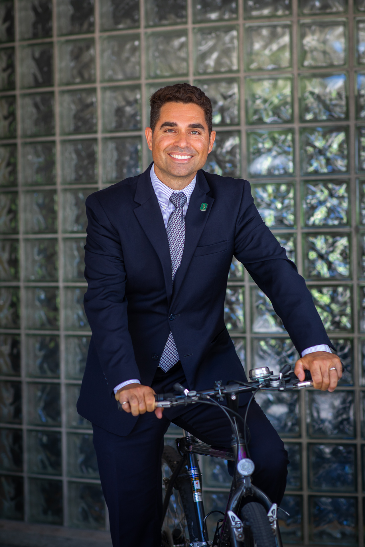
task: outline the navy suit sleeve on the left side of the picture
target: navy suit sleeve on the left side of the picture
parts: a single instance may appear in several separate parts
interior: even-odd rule
[[[140,380],[128,330],[126,272],[120,237],[95,194],[86,200],[84,306],[111,394],[131,378]]]

